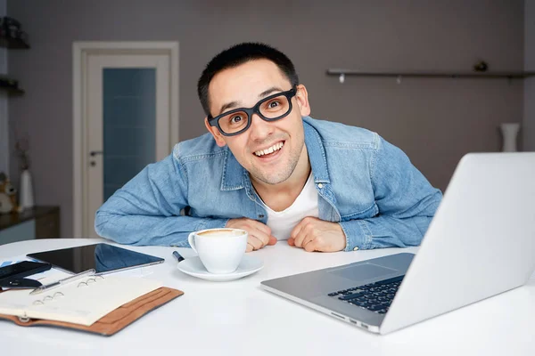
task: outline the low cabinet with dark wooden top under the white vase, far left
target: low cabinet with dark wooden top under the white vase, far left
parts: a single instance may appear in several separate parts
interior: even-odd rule
[[[35,206],[20,214],[0,215],[0,245],[27,239],[60,237],[59,206]]]

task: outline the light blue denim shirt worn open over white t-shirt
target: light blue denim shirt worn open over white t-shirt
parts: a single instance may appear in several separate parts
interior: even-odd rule
[[[366,129],[303,117],[319,218],[339,223],[346,251],[420,244],[442,194],[407,155]],[[191,231],[268,213],[249,173],[210,134],[178,143],[96,212],[95,231],[130,245],[188,247]]]

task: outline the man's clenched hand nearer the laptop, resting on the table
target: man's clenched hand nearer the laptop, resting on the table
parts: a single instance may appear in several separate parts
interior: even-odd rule
[[[345,248],[346,237],[338,223],[309,216],[293,228],[288,245],[304,248],[308,252],[335,252]]]

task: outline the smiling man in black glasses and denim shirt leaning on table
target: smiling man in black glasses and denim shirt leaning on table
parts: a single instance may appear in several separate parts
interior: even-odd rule
[[[178,143],[97,211],[96,232],[133,245],[188,246],[191,231],[249,231],[247,251],[333,252],[418,245],[440,190],[365,129],[309,117],[284,53],[237,44],[202,72],[210,134]]]

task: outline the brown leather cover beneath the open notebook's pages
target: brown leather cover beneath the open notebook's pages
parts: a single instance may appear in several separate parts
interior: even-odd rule
[[[153,290],[151,293],[141,295],[131,302],[121,305],[113,312],[110,312],[103,316],[103,318],[95,321],[95,323],[89,327],[55,320],[30,319],[24,322],[21,321],[19,317],[5,314],[0,314],[0,319],[12,320],[15,324],[20,325],[21,327],[54,326],[60,328],[74,328],[103,336],[111,336],[138,320],[147,312],[151,312],[183,294],[184,292],[178,289],[160,287]]]

